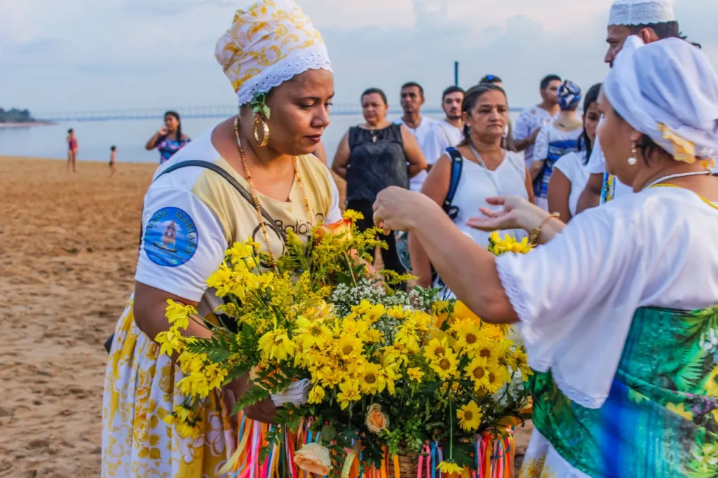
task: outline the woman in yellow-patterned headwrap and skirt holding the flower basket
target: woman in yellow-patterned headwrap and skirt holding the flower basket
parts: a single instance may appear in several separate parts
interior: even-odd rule
[[[205,400],[195,439],[168,424],[185,397],[174,386],[182,370],[154,342],[169,327],[167,300],[216,319],[206,280],[228,245],[251,237],[274,259],[286,231],[308,236],[317,222],[341,218],[330,173],[311,154],[329,124],[334,82],[309,18],[291,0],[261,0],[237,12],[216,57],[240,111],[167,161],[146,194],[134,296],[106,372],[103,477],[222,476],[236,445],[229,412],[246,380]],[[208,334],[194,324],[188,333]],[[270,400],[245,410],[262,421],[273,412]]]

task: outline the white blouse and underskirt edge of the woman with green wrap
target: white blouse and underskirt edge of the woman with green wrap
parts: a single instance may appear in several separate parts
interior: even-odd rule
[[[656,187],[577,215],[531,253],[497,258],[531,367],[550,370],[573,403],[600,409],[636,309],[718,304],[712,238],[718,207],[685,189]],[[588,476],[534,432],[521,477]]]

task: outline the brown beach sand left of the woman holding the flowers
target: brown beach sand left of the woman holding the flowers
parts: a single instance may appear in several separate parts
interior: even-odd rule
[[[103,343],[155,168],[0,156],[0,478],[99,476]]]

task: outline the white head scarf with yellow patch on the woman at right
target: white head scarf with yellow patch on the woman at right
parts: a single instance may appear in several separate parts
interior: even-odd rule
[[[689,42],[628,37],[603,90],[625,121],[675,159],[718,154],[718,74]]]

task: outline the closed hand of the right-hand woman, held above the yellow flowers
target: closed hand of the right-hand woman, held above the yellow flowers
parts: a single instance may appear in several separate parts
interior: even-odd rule
[[[401,187],[388,187],[376,196],[374,202],[374,224],[388,234],[392,230],[408,231],[419,215],[432,207],[438,207],[420,192]]]

